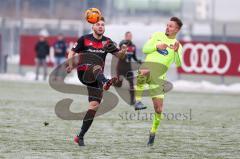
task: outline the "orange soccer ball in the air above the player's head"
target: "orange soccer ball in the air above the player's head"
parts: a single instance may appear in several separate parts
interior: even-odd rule
[[[85,19],[91,24],[97,23],[101,19],[101,16],[102,14],[97,8],[89,8],[85,12]]]

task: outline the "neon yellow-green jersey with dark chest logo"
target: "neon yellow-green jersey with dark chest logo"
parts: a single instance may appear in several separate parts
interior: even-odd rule
[[[179,67],[182,63],[182,45],[180,44],[178,52],[174,52],[173,49],[167,48],[163,51],[158,51],[156,45],[159,43],[167,44],[168,46],[174,45],[176,39],[169,39],[165,33],[156,32],[152,37],[144,44],[143,53],[146,54],[145,62],[161,63],[167,68],[172,63],[176,63]]]

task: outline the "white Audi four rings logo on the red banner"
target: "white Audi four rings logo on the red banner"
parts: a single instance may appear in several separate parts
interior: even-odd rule
[[[187,66],[183,60],[182,63],[182,69],[185,72],[196,72],[196,73],[218,73],[218,74],[224,74],[228,71],[231,65],[231,54],[230,50],[226,45],[219,44],[219,45],[213,45],[213,44],[207,44],[203,45],[201,43],[198,44],[192,44],[187,43],[183,46],[183,59],[184,55],[187,50],[190,50],[190,56],[189,61],[190,65]],[[201,51],[201,54],[198,53],[198,50]],[[212,58],[210,61],[210,54],[209,51],[212,50]],[[220,53],[224,53],[226,55],[226,63],[223,67],[220,67]],[[200,60],[201,65],[198,66],[198,61]],[[209,63],[211,63],[211,66],[209,66]]]

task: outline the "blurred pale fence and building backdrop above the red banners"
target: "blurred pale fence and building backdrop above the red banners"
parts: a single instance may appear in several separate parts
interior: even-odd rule
[[[106,34],[113,40],[119,42],[125,31],[132,31],[140,54],[142,44],[164,29],[171,16],[184,21],[180,40],[240,43],[240,1],[235,0],[0,0],[0,4],[0,72],[6,72],[7,57],[19,55],[21,35],[79,37],[89,32],[84,11],[90,7],[103,12]]]

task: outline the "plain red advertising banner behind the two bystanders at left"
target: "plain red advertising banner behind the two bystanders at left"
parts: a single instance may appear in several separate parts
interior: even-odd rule
[[[38,35],[21,35],[20,37],[20,65],[35,65],[35,45],[39,40]],[[57,36],[50,36],[47,38],[50,46],[57,41]],[[71,47],[76,41],[76,37],[65,37],[65,41]],[[53,65],[53,61],[48,61],[50,66]]]

